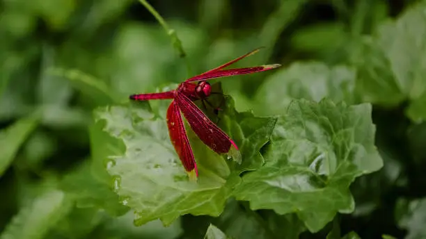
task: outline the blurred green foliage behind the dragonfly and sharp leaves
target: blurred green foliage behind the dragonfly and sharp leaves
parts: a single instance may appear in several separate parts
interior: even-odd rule
[[[342,235],[425,238],[426,55],[416,47],[426,44],[426,17],[407,13],[386,31],[386,21],[419,2],[151,0],[176,38],[136,0],[1,0],[0,231],[7,233],[0,238],[200,238],[204,217],[134,227],[132,213],[111,216],[123,208],[107,214],[75,206],[48,189],[79,193],[67,189],[66,178],[90,158],[94,108],[180,83],[258,47],[265,49],[237,66],[283,67],[221,81],[239,111],[274,115],[294,98],[373,104],[385,166],[352,185],[356,211],[340,215]],[[398,67],[416,83],[401,83]],[[102,197],[81,204],[102,204]]]

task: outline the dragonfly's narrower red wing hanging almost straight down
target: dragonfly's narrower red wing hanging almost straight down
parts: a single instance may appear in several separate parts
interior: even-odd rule
[[[185,131],[185,126],[180,115],[178,104],[172,101],[167,109],[167,126],[170,140],[178,153],[180,161],[189,175],[189,179],[196,181],[198,177],[198,170],[194,153],[192,152],[191,145]]]

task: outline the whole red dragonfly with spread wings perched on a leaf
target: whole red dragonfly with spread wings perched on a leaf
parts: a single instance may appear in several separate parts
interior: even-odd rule
[[[135,101],[145,101],[150,99],[173,99],[167,110],[167,126],[173,147],[178,153],[182,165],[184,166],[189,179],[196,181],[198,179],[198,170],[194,153],[187,133],[185,131],[184,122],[180,113],[184,115],[191,126],[191,129],[198,135],[205,145],[210,147],[217,154],[228,154],[228,158],[233,158],[237,163],[241,163],[242,156],[237,145],[232,141],[226,133],[219,129],[204,113],[194,104],[193,101],[204,101],[210,94],[213,94],[212,87],[207,80],[216,79],[223,76],[234,76],[239,74],[251,74],[255,72],[265,72],[269,69],[280,67],[280,64],[260,65],[257,67],[244,67],[236,69],[223,69],[242,60],[246,56],[253,55],[260,49],[255,49],[244,56],[240,56],[228,63],[225,63],[214,69],[210,69],[203,74],[191,77],[180,83],[176,90],[168,92],[148,93],[148,94],[132,94],[129,98]],[[197,83],[198,82],[198,83]],[[208,102],[208,101],[207,101]]]

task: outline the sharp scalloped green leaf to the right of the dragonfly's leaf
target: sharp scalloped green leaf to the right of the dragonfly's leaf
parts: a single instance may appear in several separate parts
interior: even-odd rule
[[[354,211],[349,185],[379,170],[370,104],[294,100],[278,119],[265,165],[244,174],[235,190],[251,208],[297,213],[312,232],[337,212]]]

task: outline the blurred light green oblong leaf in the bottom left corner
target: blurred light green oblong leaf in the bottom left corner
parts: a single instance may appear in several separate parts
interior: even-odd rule
[[[21,208],[0,238],[44,238],[47,231],[70,211],[71,206],[64,192],[49,190]]]

